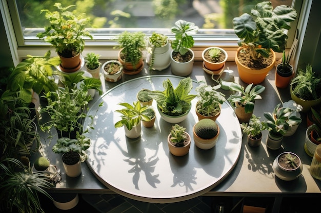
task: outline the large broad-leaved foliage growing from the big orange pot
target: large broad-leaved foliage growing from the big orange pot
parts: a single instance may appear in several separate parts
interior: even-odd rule
[[[269,57],[270,49],[282,53],[288,38],[285,30],[291,28],[288,22],[294,21],[296,16],[296,11],[289,6],[273,9],[271,2],[258,3],[251,14],[233,18],[234,32],[240,38],[238,45],[249,49],[254,60]]]

